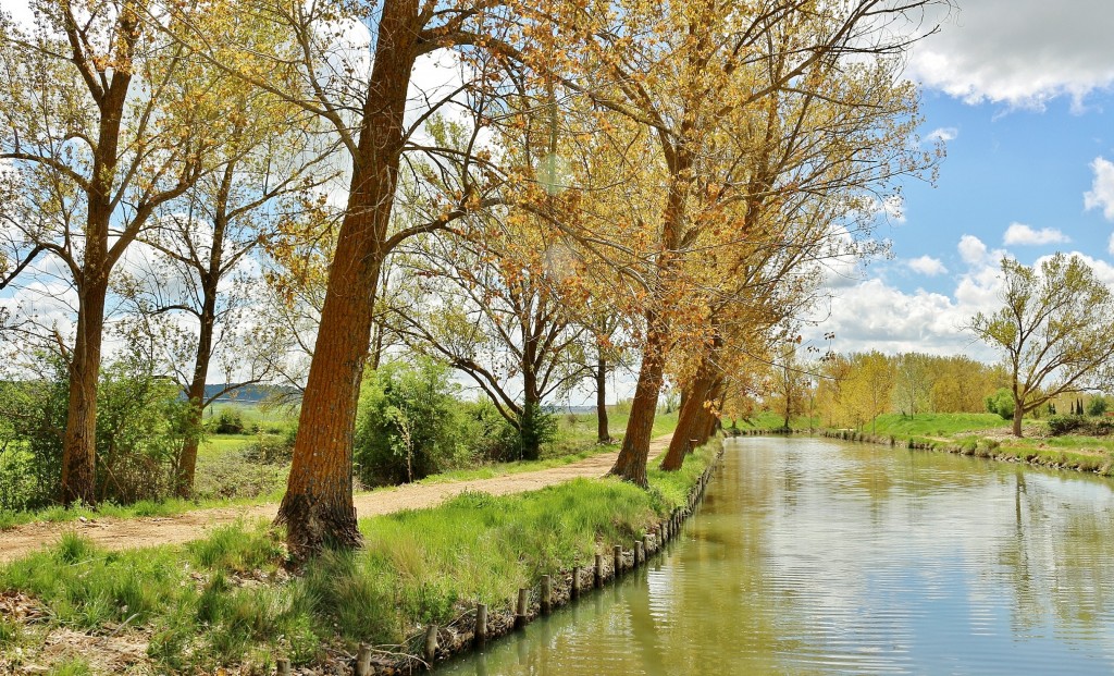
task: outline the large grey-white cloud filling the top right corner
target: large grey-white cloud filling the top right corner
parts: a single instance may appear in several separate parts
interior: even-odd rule
[[[913,50],[916,79],[968,103],[1039,108],[1057,96],[1077,107],[1114,83],[1114,3],[979,0],[934,17],[941,30]]]

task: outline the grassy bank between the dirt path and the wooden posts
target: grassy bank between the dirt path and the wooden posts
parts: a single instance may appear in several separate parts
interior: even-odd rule
[[[264,523],[125,552],[66,535],[0,568],[0,672],[267,674],[282,659],[295,673],[352,673],[368,644],[392,673],[420,664],[408,656],[423,654],[429,625],[451,651],[470,643],[478,602],[498,634],[519,589],[543,576],[567,580],[597,553],[609,562],[616,544],[629,560],[636,541],[688,505],[714,457],[701,448],[678,472],[652,469],[648,491],[575,480],[363,519],[362,550],[328,553],[293,577],[283,534]]]

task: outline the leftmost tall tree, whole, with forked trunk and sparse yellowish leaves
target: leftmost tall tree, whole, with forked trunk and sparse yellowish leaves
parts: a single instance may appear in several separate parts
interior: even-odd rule
[[[226,129],[199,119],[206,93],[178,77],[184,50],[158,42],[143,0],[32,7],[31,30],[0,19],[0,158],[21,182],[21,199],[0,209],[17,231],[13,272],[52,255],[77,291],[60,498],[92,504],[109,277],[159,205],[197,180],[207,138]]]

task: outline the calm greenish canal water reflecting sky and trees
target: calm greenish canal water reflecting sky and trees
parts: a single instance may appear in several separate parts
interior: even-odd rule
[[[744,438],[648,568],[441,674],[1114,674],[1110,481]]]

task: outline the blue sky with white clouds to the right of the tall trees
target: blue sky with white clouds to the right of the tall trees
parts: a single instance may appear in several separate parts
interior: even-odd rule
[[[910,181],[877,232],[893,258],[833,289],[840,351],[995,355],[961,325],[997,305],[1003,255],[1078,252],[1114,284],[1114,2],[959,0],[917,45],[922,138],[946,141],[935,186]],[[1107,218],[1108,216],[1108,218]]]

